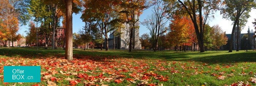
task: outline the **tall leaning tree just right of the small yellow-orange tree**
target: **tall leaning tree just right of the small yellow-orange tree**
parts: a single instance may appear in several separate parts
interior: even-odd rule
[[[249,18],[249,12],[251,12],[251,8],[254,8],[256,5],[255,0],[224,0],[223,4],[225,4],[221,10],[223,18],[233,21],[233,28],[231,32],[231,38],[233,38],[236,25],[239,28],[239,21]],[[242,19],[240,19],[241,17]],[[229,43],[229,52],[232,52],[233,39],[230,39]],[[238,49],[239,48],[237,48],[237,51],[239,51]]]

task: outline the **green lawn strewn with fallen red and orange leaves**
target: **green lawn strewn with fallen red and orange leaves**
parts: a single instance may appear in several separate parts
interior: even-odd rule
[[[0,85],[256,85],[256,51],[175,52],[0,47]],[[41,83],[3,83],[3,66],[41,65]],[[61,72],[63,71],[63,73]],[[2,77],[2,78],[1,78]],[[69,77],[69,78],[68,78]]]

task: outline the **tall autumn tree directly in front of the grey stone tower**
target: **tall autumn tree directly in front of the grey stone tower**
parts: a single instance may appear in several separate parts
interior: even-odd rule
[[[133,36],[135,29],[138,29],[139,16],[142,12],[149,8],[151,2],[149,0],[121,0],[122,13],[125,16],[125,24],[128,26],[129,32],[129,51],[132,52],[133,48]]]

